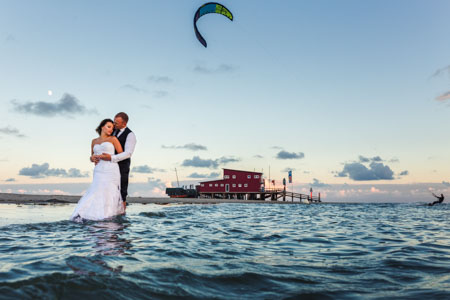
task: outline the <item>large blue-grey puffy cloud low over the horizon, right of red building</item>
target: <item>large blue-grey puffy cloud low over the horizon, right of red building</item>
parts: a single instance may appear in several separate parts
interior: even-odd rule
[[[365,180],[392,180],[394,172],[389,166],[383,163],[372,161],[367,168],[359,162],[346,163],[344,169],[337,174],[337,177],[349,177],[356,181]]]

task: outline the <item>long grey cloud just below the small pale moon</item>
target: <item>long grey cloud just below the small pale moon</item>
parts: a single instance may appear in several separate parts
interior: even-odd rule
[[[19,113],[33,114],[44,117],[54,117],[56,115],[85,115],[96,113],[95,110],[88,110],[80,104],[77,98],[70,94],[64,94],[56,103],[37,101],[20,104],[16,100],[11,101],[14,110]]]

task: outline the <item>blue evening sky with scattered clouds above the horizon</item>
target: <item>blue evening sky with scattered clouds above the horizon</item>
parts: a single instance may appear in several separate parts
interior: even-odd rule
[[[450,192],[450,2],[0,0],[0,192],[82,194],[124,111],[129,192],[262,171],[329,201]],[[270,170],[270,173],[269,173]]]

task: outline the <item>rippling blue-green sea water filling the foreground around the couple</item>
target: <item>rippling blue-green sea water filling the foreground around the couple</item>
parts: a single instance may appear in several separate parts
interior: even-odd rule
[[[0,299],[450,299],[450,205],[0,205]]]

